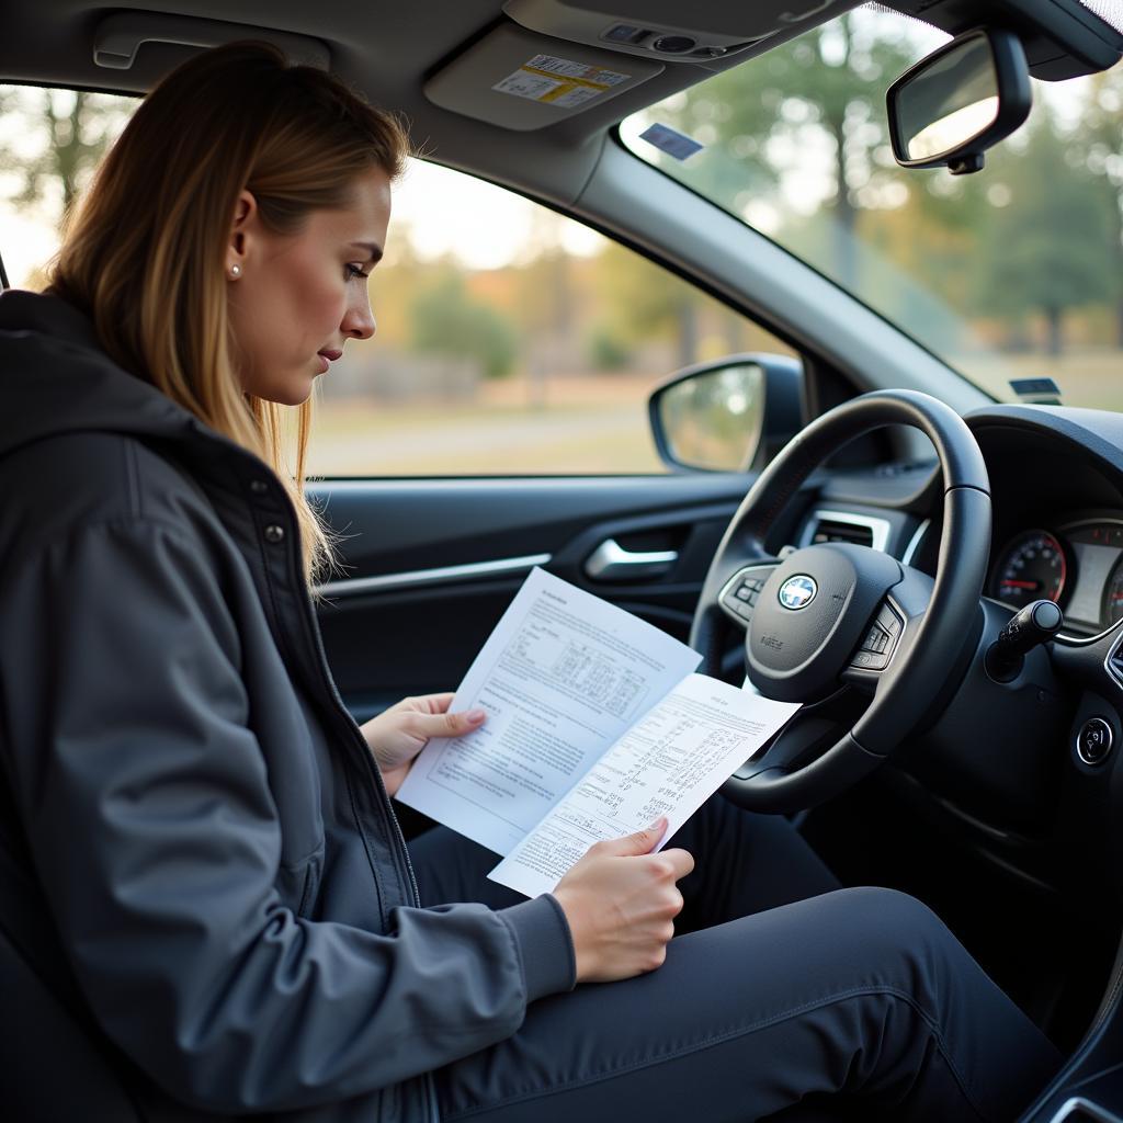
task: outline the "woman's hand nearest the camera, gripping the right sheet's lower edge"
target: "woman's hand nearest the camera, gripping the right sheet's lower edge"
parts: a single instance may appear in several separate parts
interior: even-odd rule
[[[611,983],[663,966],[683,907],[676,882],[694,868],[685,850],[651,853],[667,829],[597,842],[557,884],[578,983]]]

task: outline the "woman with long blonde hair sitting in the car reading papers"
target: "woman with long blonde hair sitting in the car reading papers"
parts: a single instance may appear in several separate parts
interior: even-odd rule
[[[330,545],[279,439],[299,407],[302,451],[314,380],[374,332],[405,152],[272,48],[200,55],[106,159],[48,293],[0,299],[0,966],[33,1012],[3,1020],[4,1103],[1012,1117],[1048,1042],[922,905],[829,892],[782,821],[714,801],[682,846],[650,853],[654,824],[533,901],[448,831],[414,873],[387,793],[482,714],[351,722],[308,595]]]

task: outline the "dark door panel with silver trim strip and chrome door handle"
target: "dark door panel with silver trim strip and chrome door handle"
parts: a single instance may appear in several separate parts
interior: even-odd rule
[[[752,477],[338,481],[319,485],[345,575],[319,608],[328,659],[359,721],[453,690],[532,564],[685,640],[713,550]],[[585,566],[612,539],[674,559],[634,578]]]

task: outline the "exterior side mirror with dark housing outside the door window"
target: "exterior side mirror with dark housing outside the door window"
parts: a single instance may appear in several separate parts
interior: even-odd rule
[[[729,355],[673,374],[648,401],[655,447],[676,471],[746,472],[803,426],[803,367],[783,355]]]

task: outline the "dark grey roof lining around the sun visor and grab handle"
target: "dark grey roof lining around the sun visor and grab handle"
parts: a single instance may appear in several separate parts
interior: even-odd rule
[[[820,15],[833,16],[852,2],[838,0]],[[168,15],[186,15],[184,4],[161,0],[122,0],[112,11],[115,16],[150,13],[157,4]],[[375,104],[403,112],[411,121],[414,143],[428,156],[454,167],[486,168],[493,180],[520,185],[558,203],[579,195],[608,129],[622,117],[747,56],[705,66],[668,63],[661,73],[603,107],[590,107],[557,125],[535,129],[511,145],[509,130],[442,109],[422,91],[427,77],[506,19],[501,0],[427,0],[424,8],[423,42],[413,18],[417,9],[387,0],[362,6],[344,0],[319,0],[314,6],[304,0],[275,0],[267,8],[267,19],[272,28],[323,43],[330,51],[334,73]],[[198,49],[145,43],[130,69],[98,66],[93,44],[99,22],[107,15],[91,0],[9,4],[6,34],[0,37],[0,79],[139,94]],[[198,19],[243,24],[249,37],[261,26],[263,15],[262,6],[252,0],[192,0],[190,10]],[[800,34],[811,22],[785,29],[769,42]],[[267,38],[267,31],[261,37]],[[545,48],[556,49],[559,40],[542,36],[541,42]]]

